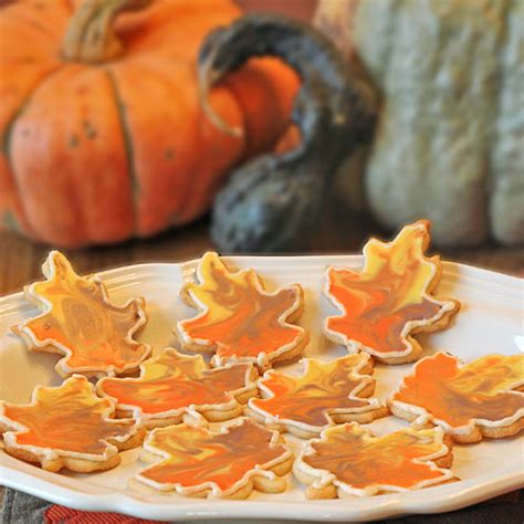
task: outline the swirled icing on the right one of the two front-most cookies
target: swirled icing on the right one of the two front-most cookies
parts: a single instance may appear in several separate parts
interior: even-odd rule
[[[302,461],[315,470],[332,473],[336,483],[350,490],[412,490],[448,480],[441,470],[425,459],[448,452],[442,433],[434,429],[404,429],[375,437],[356,423],[335,426],[323,432]]]

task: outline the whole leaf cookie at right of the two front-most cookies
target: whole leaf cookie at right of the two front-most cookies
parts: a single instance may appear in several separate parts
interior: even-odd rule
[[[311,440],[293,467],[307,499],[418,490],[453,479],[451,447],[440,428],[406,428],[375,437],[356,422]]]

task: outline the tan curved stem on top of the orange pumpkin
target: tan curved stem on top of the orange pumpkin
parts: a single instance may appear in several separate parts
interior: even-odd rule
[[[123,11],[149,6],[151,0],[85,0],[71,18],[62,44],[62,56],[75,62],[101,63],[117,59],[124,44],[114,30]]]

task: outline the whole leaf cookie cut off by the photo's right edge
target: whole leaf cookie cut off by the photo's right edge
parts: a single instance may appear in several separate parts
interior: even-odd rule
[[[394,415],[438,425],[457,442],[510,437],[524,428],[524,355],[470,364],[448,353],[418,361],[389,399]]]

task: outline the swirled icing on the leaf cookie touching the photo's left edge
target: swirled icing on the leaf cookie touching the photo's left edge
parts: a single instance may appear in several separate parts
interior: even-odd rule
[[[98,398],[88,380],[75,375],[56,388],[36,387],[32,404],[0,402],[0,421],[10,429],[11,446],[105,457],[116,452],[108,441],[136,432],[133,421],[111,419],[113,411],[109,399]]]

